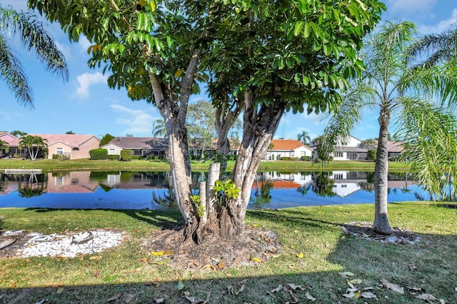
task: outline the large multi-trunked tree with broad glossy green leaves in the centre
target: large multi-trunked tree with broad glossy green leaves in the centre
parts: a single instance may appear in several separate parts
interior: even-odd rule
[[[243,233],[253,178],[281,116],[303,108],[336,108],[346,78],[361,71],[357,51],[363,36],[385,8],[377,0],[142,0],[133,5],[121,0],[29,0],[29,5],[59,21],[71,40],[86,35],[93,44],[89,64],[108,63],[111,87],[125,86],[132,99],[147,98],[157,106],[169,136],[184,235],[197,243],[205,235],[231,238]],[[216,184],[221,203],[200,206],[191,199],[185,126],[199,71],[208,71],[225,90],[213,98],[221,126],[231,125],[243,111],[233,183]],[[225,127],[220,134],[226,142]]]

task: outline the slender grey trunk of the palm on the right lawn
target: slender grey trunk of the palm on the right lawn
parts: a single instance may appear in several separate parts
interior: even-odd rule
[[[387,218],[387,191],[388,191],[388,123],[390,122],[390,110],[382,105],[378,118],[379,137],[376,152],[376,166],[374,170],[374,198],[375,213],[373,230],[380,233],[391,233],[391,226]]]

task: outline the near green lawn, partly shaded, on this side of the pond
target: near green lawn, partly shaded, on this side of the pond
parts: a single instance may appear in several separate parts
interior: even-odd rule
[[[452,208],[451,208],[452,207]],[[142,243],[161,226],[181,221],[173,211],[56,211],[0,209],[1,229],[62,233],[93,228],[124,229],[118,248],[79,258],[0,259],[0,303],[424,303],[426,293],[457,303],[456,206],[389,204],[393,227],[417,233],[415,245],[381,244],[344,235],[341,224],[373,221],[373,205],[248,211],[246,224],[273,230],[283,248],[268,261],[219,270],[188,270],[156,263]],[[217,258],[217,257],[216,257]],[[349,287],[338,273],[360,279],[356,288],[378,299],[343,297]],[[181,285],[181,281],[184,284]],[[388,289],[386,280],[403,288]],[[289,293],[278,285],[301,285]],[[268,291],[268,292],[267,292]],[[114,297],[115,298],[115,297]],[[124,300],[122,300],[124,299]],[[2,302],[3,301],[3,302]],[[438,301],[436,301],[438,302]]]

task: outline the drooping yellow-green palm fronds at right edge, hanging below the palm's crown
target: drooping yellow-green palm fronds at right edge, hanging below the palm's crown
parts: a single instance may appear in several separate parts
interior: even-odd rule
[[[418,183],[435,198],[455,197],[449,185],[457,174],[456,116],[420,98],[402,98],[401,106],[403,119],[396,134]]]

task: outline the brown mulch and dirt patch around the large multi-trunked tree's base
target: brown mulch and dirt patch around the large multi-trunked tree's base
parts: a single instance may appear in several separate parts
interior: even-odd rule
[[[255,265],[278,256],[282,245],[276,233],[246,226],[244,235],[230,240],[206,240],[202,245],[189,242],[184,248],[181,230],[160,230],[144,241],[143,248],[167,265],[191,269],[222,269],[236,265]]]

